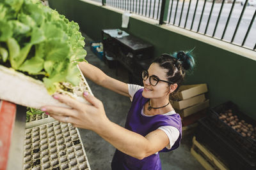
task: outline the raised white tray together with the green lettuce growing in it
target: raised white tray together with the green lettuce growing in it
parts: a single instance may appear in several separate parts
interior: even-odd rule
[[[65,106],[51,97],[60,92],[84,101],[89,89],[77,63],[86,51],[76,22],[37,0],[3,0],[0,25],[0,99]]]

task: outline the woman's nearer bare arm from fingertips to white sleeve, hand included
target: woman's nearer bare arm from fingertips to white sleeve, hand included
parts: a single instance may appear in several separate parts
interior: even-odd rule
[[[169,143],[168,136],[160,129],[144,137],[111,122],[106,117],[102,102],[88,92],[84,93],[84,98],[90,104],[80,103],[60,94],[55,94],[53,97],[70,108],[43,106],[42,111],[47,111],[51,117],[60,122],[68,122],[74,127],[96,132],[121,152],[137,159],[143,159],[159,152]]]

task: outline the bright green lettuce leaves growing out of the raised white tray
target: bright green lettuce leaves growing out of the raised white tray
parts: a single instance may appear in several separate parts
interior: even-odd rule
[[[0,0],[0,64],[42,79],[49,94],[78,85],[83,47],[79,25],[40,1]]]

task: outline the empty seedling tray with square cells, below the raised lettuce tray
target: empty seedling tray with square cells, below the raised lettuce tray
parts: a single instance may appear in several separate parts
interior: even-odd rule
[[[24,169],[90,170],[78,129],[58,121],[26,129]]]

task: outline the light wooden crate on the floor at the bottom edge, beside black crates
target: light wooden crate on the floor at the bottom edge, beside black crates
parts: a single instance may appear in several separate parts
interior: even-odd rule
[[[191,154],[195,157],[205,169],[228,169],[223,162],[221,162],[216,156],[214,156],[205,146],[201,145],[196,141],[195,136],[193,137],[193,145],[190,150]]]

